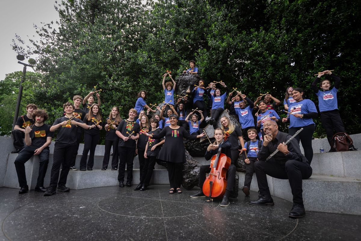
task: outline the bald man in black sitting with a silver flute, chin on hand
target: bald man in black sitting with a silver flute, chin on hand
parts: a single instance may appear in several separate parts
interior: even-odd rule
[[[265,137],[261,150],[257,154],[258,161],[255,162],[255,172],[261,197],[256,201],[251,201],[250,204],[274,205],[266,175],[288,179],[293,194],[293,207],[289,216],[302,218],[306,214],[302,198],[302,179],[307,179],[312,175],[312,168],[305,156],[301,154],[296,139],[292,139],[287,145],[283,145],[291,138],[291,135],[280,132],[278,125],[272,120],[265,121],[263,126]],[[277,149],[279,151],[266,162],[268,156]]]

